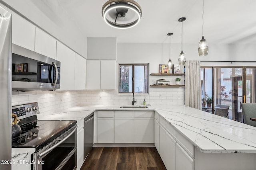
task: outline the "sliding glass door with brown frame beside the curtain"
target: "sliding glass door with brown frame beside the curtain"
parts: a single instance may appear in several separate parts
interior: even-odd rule
[[[229,107],[228,118],[243,122],[241,103],[256,103],[256,67],[202,67],[201,87],[202,98],[212,97],[206,111]]]

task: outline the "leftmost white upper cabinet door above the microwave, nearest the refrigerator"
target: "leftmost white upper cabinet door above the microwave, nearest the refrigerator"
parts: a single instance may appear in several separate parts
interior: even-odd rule
[[[12,14],[12,43],[35,51],[35,26],[15,13]]]

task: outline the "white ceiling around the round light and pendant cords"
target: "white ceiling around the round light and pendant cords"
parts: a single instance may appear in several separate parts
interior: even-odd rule
[[[107,0],[45,0],[56,15],[65,12],[85,37],[117,37],[118,43],[199,43],[202,0],[136,0],[140,23],[129,29],[107,25],[101,15]],[[47,12],[47,10],[42,9]],[[62,12],[60,12],[62,11]],[[62,16],[60,16],[62,17]],[[256,43],[256,0],[204,0],[204,38],[208,43]]]

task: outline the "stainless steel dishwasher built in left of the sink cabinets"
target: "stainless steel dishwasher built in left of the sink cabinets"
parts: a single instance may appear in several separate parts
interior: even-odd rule
[[[93,146],[94,113],[84,118],[84,160]]]

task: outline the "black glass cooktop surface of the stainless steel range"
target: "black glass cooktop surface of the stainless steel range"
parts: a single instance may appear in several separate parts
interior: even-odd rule
[[[22,133],[12,139],[12,147],[34,147],[38,150],[74,125],[74,120],[35,120],[20,125]]]

